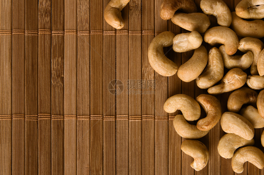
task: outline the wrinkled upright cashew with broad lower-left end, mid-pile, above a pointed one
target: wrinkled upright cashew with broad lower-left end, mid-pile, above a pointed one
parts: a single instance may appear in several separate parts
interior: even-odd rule
[[[224,75],[224,64],[221,53],[216,47],[210,49],[208,64],[204,72],[196,78],[196,84],[201,89],[208,89],[219,82]]]

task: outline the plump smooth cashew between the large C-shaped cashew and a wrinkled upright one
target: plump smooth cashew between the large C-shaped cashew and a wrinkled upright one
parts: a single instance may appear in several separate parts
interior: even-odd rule
[[[204,70],[207,64],[208,54],[203,45],[194,50],[192,57],[182,64],[178,69],[178,77],[184,82],[196,79]],[[195,69],[193,66],[195,65]]]

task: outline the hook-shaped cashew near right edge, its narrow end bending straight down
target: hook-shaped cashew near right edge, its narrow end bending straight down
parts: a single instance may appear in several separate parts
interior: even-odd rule
[[[258,75],[258,69],[257,69],[258,56],[263,48],[264,48],[263,42],[257,38],[246,37],[246,38],[242,38],[239,41],[238,49],[241,52],[246,53],[247,51],[251,51],[253,53],[253,62],[250,67],[251,75]]]

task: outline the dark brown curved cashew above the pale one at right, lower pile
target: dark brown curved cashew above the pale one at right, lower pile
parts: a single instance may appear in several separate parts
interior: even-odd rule
[[[232,92],[227,100],[227,109],[230,112],[239,112],[243,104],[256,106],[258,93],[248,87],[242,87]]]

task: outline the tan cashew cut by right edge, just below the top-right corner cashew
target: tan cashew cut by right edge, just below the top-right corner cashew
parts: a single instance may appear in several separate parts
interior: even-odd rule
[[[253,38],[262,38],[264,36],[263,20],[247,21],[237,16],[235,12],[232,12],[231,14],[232,14],[231,28],[235,31],[237,35],[242,37],[253,37]]]

